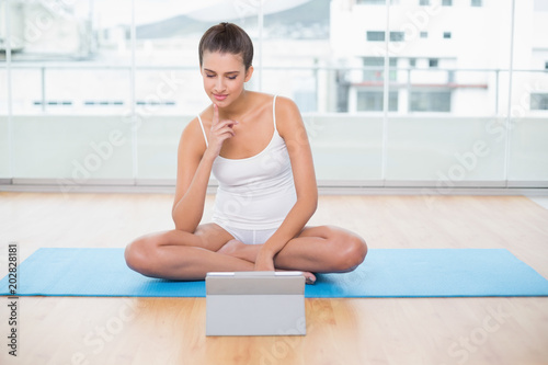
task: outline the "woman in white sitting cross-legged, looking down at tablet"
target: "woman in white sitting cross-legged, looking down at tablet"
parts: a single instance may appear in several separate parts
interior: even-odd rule
[[[175,229],[128,244],[127,265],[151,277],[203,280],[208,272],[349,272],[365,241],[335,227],[307,227],[318,189],[300,113],[289,99],[244,89],[253,45],[231,23],[199,42],[204,90],[212,100],[183,130],[172,217]],[[209,174],[219,189],[213,223],[199,225]]]

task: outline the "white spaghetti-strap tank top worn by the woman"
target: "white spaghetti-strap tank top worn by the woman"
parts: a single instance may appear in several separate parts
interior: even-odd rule
[[[289,153],[276,128],[276,96],[272,104],[274,134],[269,146],[244,159],[218,156],[213,164],[219,186],[212,220],[221,227],[276,229],[297,202]],[[198,121],[207,145],[199,115]]]

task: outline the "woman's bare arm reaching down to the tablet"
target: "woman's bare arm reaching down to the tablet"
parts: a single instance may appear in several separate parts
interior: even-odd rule
[[[277,129],[285,140],[292,161],[297,202],[259,252],[255,270],[264,271],[274,270],[274,256],[300,232],[318,206],[312,152],[297,105],[288,99],[278,98],[276,110]]]

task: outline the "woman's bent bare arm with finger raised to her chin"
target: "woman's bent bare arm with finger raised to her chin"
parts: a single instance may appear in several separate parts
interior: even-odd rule
[[[175,229],[194,232],[202,220],[207,193],[207,183],[213,162],[220,152],[222,142],[233,136],[233,121],[219,122],[217,106],[208,134],[209,146],[204,150],[204,138],[197,121],[183,130],[178,150],[175,198],[171,215]]]

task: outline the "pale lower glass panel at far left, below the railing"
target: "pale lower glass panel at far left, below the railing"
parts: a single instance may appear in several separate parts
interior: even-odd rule
[[[14,175],[54,179],[60,191],[132,178],[130,125],[119,116],[14,116]]]

